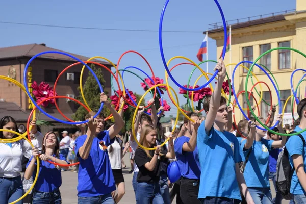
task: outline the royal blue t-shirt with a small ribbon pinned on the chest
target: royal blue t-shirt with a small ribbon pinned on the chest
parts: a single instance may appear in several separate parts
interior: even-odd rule
[[[94,197],[105,195],[116,190],[112,167],[107,152],[107,146],[114,142],[110,140],[109,131],[102,131],[92,141],[89,156],[86,160],[79,155],[87,135],[82,135],[75,140],[74,151],[78,152],[78,196]],[[103,148],[105,147],[105,148]]]

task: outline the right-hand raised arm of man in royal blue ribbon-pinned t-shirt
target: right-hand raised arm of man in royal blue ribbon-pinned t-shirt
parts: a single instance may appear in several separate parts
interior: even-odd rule
[[[104,103],[104,106],[106,106],[111,111],[115,120],[115,124],[109,128],[110,139],[113,139],[124,127],[124,121],[120,114],[114,109],[114,107],[112,107],[111,103],[107,98],[108,97],[105,93],[101,93],[100,102]]]

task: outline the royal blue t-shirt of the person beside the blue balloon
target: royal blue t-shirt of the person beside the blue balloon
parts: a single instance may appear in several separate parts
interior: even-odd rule
[[[198,149],[194,151],[183,151],[183,144],[189,142],[190,138],[181,136],[175,140],[174,151],[179,164],[181,175],[186,179],[200,179],[200,161]]]

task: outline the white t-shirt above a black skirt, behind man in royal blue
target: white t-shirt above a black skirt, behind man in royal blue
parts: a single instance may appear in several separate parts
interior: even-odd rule
[[[110,152],[110,148],[113,148],[113,150]],[[109,145],[107,147],[111,167],[112,169],[121,169],[121,151],[122,146],[120,146],[120,143],[118,142],[118,138],[115,138],[115,141],[113,144]]]

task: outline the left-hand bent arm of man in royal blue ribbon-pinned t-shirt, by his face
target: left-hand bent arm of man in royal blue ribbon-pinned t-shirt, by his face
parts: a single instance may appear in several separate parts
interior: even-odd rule
[[[77,153],[84,160],[87,159],[89,156],[92,141],[93,141],[93,138],[95,138],[95,132],[97,129],[97,125],[98,123],[96,122],[95,119],[93,119],[93,117],[88,119],[88,130],[86,133],[87,137],[86,137],[84,144],[79,148],[79,151]]]

